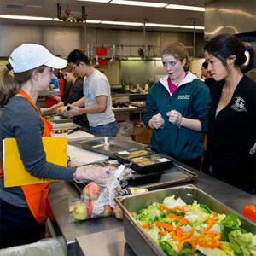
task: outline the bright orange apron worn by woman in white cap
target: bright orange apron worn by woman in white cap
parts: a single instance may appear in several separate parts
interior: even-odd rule
[[[32,102],[30,96],[26,94],[25,91],[20,90],[19,93],[22,96],[25,96],[26,99],[32,104],[32,106],[38,111],[38,108]],[[41,114],[40,114],[41,116]],[[52,125],[41,116],[41,119],[44,124],[44,133],[43,137],[50,137],[50,131],[52,129]],[[3,167],[0,170],[0,177],[3,177]],[[32,185],[24,185],[21,186],[23,193],[26,197],[27,205],[32,212],[33,217],[38,221],[39,224],[44,224],[44,222],[48,218],[49,213],[49,203],[47,201],[47,195],[49,191],[49,183],[40,183],[40,184],[32,184]]]

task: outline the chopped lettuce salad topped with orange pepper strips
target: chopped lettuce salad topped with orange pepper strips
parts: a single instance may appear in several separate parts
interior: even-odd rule
[[[256,235],[241,228],[235,212],[220,214],[172,195],[131,214],[166,255],[256,255]]]

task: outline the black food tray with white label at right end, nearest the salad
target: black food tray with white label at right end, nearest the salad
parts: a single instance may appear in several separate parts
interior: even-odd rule
[[[165,171],[172,166],[174,159],[166,154],[151,154],[131,159],[131,169],[145,174]]]

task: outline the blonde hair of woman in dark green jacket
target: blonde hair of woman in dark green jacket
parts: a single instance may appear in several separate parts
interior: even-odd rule
[[[177,60],[183,62],[186,60],[184,65],[184,70],[189,70],[189,53],[185,48],[184,44],[178,42],[171,42],[170,44],[166,44],[165,48],[162,50],[163,55],[173,55]]]

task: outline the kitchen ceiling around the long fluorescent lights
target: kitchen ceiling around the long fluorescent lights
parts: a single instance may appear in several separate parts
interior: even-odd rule
[[[204,0],[143,0],[143,2],[183,4],[197,7],[204,7],[205,3]],[[108,20],[143,23],[144,20],[147,19],[149,23],[172,24],[192,27],[194,25],[204,26],[204,12],[201,11],[139,7],[110,3],[80,2],[75,0],[1,0],[0,15],[27,15],[57,18],[58,3],[60,3],[61,5],[62,17],[67,17],[66,10],[69,9],[75,19],[78,17],[81,18],[82,6],[84,6],[87,20]],[[84,26],[84,23],[81,22],[9,20],[1,18],[0,24],[81,27]],[[117,26],[93,23],[87,23],[87,27],[143,30],[143,26]],[[193,32],[194,29],[147,26],[147,31]],[[196,32],[203,32],[203,30],[196,30]]]

